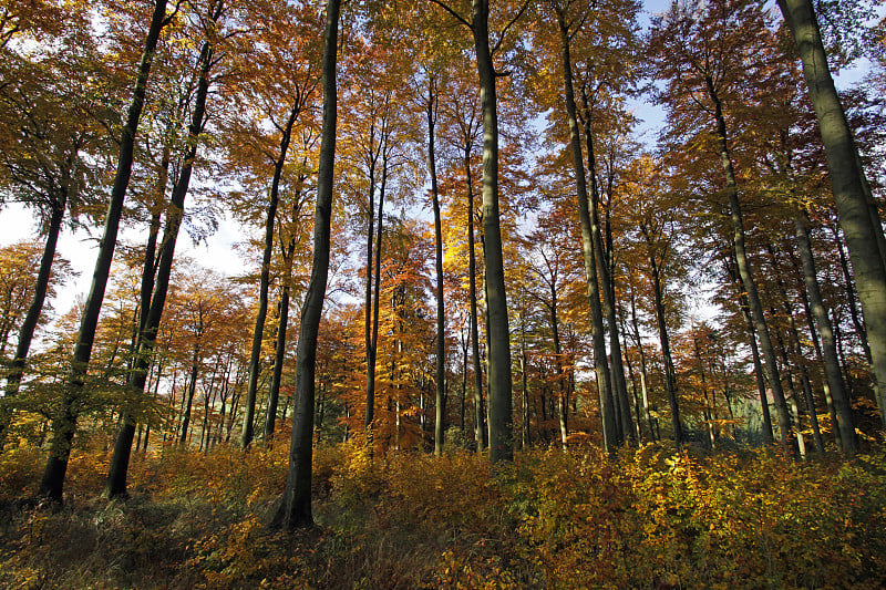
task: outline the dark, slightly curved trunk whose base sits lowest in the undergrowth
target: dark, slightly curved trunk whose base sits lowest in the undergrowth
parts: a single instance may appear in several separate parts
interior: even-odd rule
[[[301,330],[296,350],[296,406],[292,411],[292,438],[289,469],[282,500],[271,524],[293,529],[313,524],[311,516],[311,459],[313,457],[313,389],[317,365],[317,334],[323,311],[329,273],[330,220],[336,158],[336,58],[340,0],[328,0],[323,38],[323,126],[320,139],[320,169],[317,179],[317,210],[313,230],[311,279],[301,312]]]

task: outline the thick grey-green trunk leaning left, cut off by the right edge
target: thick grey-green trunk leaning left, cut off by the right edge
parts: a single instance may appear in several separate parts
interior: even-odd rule
[[[883,225],[858,158],[843,105],[827,65],[818,22],[811,0],[779,0],[791,28],[815,107],[827,157],[839,224],[846,237],[855,284],[865,315],[872,373],[886,383],[886,265]],[[886,387],[876,389],[880,420],[886,426]]]

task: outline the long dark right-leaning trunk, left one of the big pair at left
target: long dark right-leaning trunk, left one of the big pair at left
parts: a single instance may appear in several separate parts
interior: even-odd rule
[[[92,344],[95,339],[95,330],[99,325],[99,314],[102,308],[102,300],[104,299],[104,291],[107,286],[111,262],[114,258],[120,219],[123,215],[123,201],[126,197],[126,188],[128,187],[130,176],[132,174],[135,134],[138,130],[138,120],[142,116],[154,50],[157,46],[159,32],[164,24],[166,24],[165,19],[166,0],[156,0],[154,12],[151,18],[151,27],[148,28],[144,50],[142,51],[142,58],[138,63],[132,103],[126,113],[126,124],[123,126],[120,154],[117,156],[117,169],[109,199],[99,257],[96,258],[95,270],[92,276],[92,287],[90,288],[90,293],[83,306],[80,331],[78,332],[74,354],[71,359],[68,382],[62,393],[61,407],[58,415],[52,421],[52,442],[47,466],[40,483],[40,495],[54,503],[62,501],[64,476],[68,472],[68,458],[71,455],[71,442],[74,438],[74,431],[76,429],[76,401],[82,393],[83,380],[86,375],[90,356],[92,355]]]

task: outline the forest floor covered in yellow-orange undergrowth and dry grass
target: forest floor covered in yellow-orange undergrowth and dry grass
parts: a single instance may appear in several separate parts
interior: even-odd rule
[[[282,435],[280,437],[282,438]],[[286,445],[134,457],[76,449],[65,504],[33,499],[42,452],[0,455],[0,588],[884,588],[886,452],[852,460],[646,445],[518,453],[491,470],[320,445],[317,526],[267,522]]]

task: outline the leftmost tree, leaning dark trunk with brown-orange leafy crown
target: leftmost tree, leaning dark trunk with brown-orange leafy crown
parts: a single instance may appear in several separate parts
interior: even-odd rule
[[[78,222],[89,208],[95,177],[105,162],[102,130],[112,117],[103,89],[92,82],[100,72],[94,39],[83,24],[82,7],[34,7],[34,28],[27,34],[14,24],[14,34],[25,44],[44,34],[41,11],[52,10],[70,19],[72,27],[58,31],[56,46],[42,54],[0,49],[0,64],[9,82],[0,84],[0,200],[18,200],[35,209],[40,234],[45,236],[43,256],[34,277],[28,312],[19,327],[19,339],[7,374],[7,397],[18,394],[28,354],[40,322],[55,248],[65,220]],[[14,22],[16,17],[9,15]],[[45,14],[42,14],[45,17]],[[33,22],[31,23],[34,24]],[[10,31],[9,35],[13,32]],[[10,37],[11,38],[11,37]],[[0,420],[0,438],[4,428]]]

